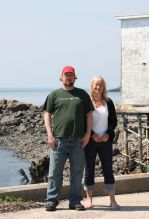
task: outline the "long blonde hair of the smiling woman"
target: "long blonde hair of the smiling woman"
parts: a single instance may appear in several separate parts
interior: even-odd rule
[[[106,100],[107,99],[106,83],[105,83],[105,80],[103,79],[103,77],[101,77],[100,75],[97,75],[97,76],[93,77],[93,79],[91,80],[91,84],[90,84],[90,96],[91,96],[91,99],[94,100],[93,84],[94,84],[95,81],[102,82],[102,85],[103,85],[102,98],[104,100]]]

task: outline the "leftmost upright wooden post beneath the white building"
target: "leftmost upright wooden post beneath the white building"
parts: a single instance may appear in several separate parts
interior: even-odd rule
[[[124,126],[124,141],[125,141],[125,158],[126,167],[129,168],[129,153],[128,153],[128,115],[123,115],[123,126]]]

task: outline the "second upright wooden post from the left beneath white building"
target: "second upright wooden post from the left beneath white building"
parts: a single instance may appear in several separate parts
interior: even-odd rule
[[[139,162],[142,162],[143,153],[142,153],[142,129],[141,129],[141,114],[137,114],[138,119],[138,141],[139,141]],[[142,170],[142,166],[140,165],[140,169]]]

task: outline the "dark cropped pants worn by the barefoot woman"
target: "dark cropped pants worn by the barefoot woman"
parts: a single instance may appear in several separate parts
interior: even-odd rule
[[[104,184],[106,189],[112,189],[115,183],[112,168],[112,143],[110,140],[107,142],[95,142],[90,139],[88,145],[85,147],[85,187],[90,187],[95,184],[95,161],[97,154],[101,160],[102,171],[104,176]],[[111,185],[111,186],[110,186]]]

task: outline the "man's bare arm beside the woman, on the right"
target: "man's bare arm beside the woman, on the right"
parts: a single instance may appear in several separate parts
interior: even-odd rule
[[[93,125],[93,116],[92,112],[89,112],[86,114],[86,133],[81,139],[83,148],[88,144],[90,135],[91,135],[91,129]]]

